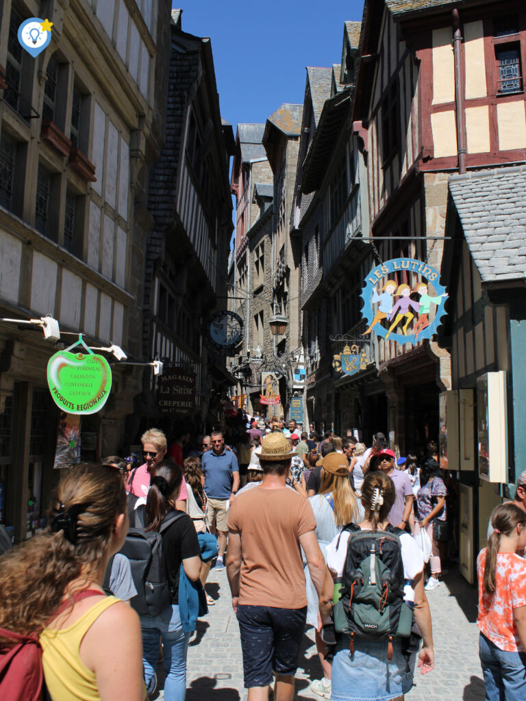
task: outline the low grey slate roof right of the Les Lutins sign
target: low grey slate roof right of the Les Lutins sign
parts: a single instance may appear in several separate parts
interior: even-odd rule
[[[526,165],[452,175],[450,193],[483,283],[526,278]]]

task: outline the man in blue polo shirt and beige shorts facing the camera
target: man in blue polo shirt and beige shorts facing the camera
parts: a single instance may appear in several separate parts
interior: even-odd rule
[[[203,453],[201,470],[205,476],[205,494],[208,498],[206,521],[210,532],[217,529],[216,569],[224,569],[223,556],[227,550],[227,513],[239,488],[239,467],[232,451],[224,449],[223,434],[213,431],[210,435],[212,450]]]

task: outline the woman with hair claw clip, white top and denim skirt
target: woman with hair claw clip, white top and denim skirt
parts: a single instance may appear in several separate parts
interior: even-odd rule
[[[380,470],[367,472],[361,497],[365,516],[357,528],[361,531],[390,531],[400,538],[404,600],[407,606],[414,608],[414,620],[424,644],[419,652],[418,666],[421,667],[421,673],[426,674],[433,669],[434,654],[431,613],[424,592],[424,556],[410,533],[389,524],[389,511],[395,496],[391,477]],[[345,529],[328,545],[327,564],[334,578],[343,576],[349,535],[350,532]],[[332,578],[327,576],[320,599],[323,620],[332,607],[333,589]],[[342,633],[337,637],[335,649],[331,698],[338,701],[403,701],[404,694],[412,686],[414,655],[403,651],[400,638],[393,637],[389,642],[384,638],[356,637],[353,640],[353,653],[350,654],[351,639]]]

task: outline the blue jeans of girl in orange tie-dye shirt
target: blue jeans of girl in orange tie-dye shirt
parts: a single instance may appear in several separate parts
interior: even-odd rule
[[[500,650],[480,633],[478,655],[487,701],[526,701],[526,653]]]

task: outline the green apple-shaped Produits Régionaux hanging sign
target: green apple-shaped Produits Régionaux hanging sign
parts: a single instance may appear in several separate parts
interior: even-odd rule
[[[112,369],[102,355],[59,351],[48,362],[48,385],[62,411],[95,414],[109,397]]]

